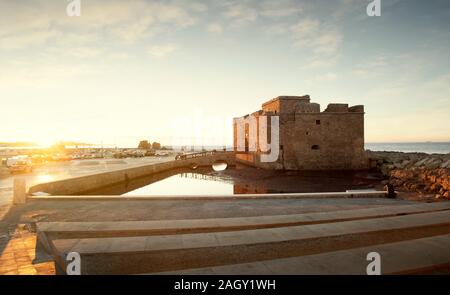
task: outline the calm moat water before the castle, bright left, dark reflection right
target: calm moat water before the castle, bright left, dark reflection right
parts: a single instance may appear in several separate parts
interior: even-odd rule
[[[373,189],[381,176],[351,171],[270,171],[236,166],[224,171],[211,168],[168,171],[120,183],[89,195],[186,196],[270,193],[344,192]]]

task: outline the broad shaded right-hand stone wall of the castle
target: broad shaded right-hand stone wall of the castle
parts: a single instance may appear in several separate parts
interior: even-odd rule
[[[364,169],[364,113],[302,113],[280,118],[284,169]]]

